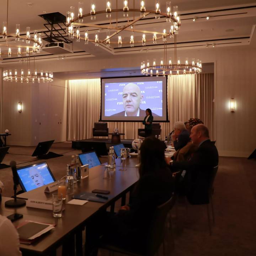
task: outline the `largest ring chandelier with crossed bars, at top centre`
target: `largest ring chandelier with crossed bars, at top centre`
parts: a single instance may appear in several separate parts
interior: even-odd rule
[[[153,41],[154,44],[159,39],[167,38],[167,37],[174,37],[178,30],[180,29],[181,21],[180,17],[178,16],[178,7],[172,6],[171,2],[166,2],[166,13],[161,12],[160,9],[160,1],[156,0],[155,2],[155,10],[148,10],[146,9],[145,1],[140,1],[140,8],[135,8],[135,0],[133,1],[133,8],[129,7],[129,0],[123,1],[122,8],[118,8],[117,1],[116,1],[116,9],[111,9],[111,2],[106,1],[106,9],[96,11],[96,5],[94,3],[91,4],[91,11],[88,14],[84,14],[84,2],[79,2],[78,5],[78,16],[75,17],[74,14],[74,6],[70,7],[70,11],[66,13],[66,31],[67,35],[70,37],[70,39],[73,39],[75,37],[76,41],[79,42],[80,40],[84,40],[85,44],[88,42],[94,42],[95,46],[98,46],[99,43],[102,43],[106,47],[110,47],[110,44],[118,44],[118,47],[122,47],[123,44],[130,44],[131,47],[134,46],[135,43],[142,43],[143,46],[145,46],[146,42]],[[118,18],[118,13],[123,12],[124,18]],[[106,14],[107,20],[104,21],[104,25],[97,25],[95,22],[85,23],[84,18],[91,17],[91,20],[96,20],[96,16],[99,14]],[[111,14],[116,13],[116,19],[111,20]],[[139,17],[135,17],[135,13],[139,14]],[[129,20],[129,14],[133,15],[133,19]],[[154,14],[155,18],[165,17],[166,21],[168,22],[167,25],[170,26],[170,29],[164,30],[164,31],[144,31],[139,30],[135,28],[136,23],[138,24],[138,21],[143,20],[143,18],[149,14]],[[122,24],[126,17],[127,23],[125,25]],[[89,38],[89,32],[86,30],[84,32],[84,37],[81,34],[80,27],[93,27],[97,28],[97,30],[105,29],[108,31],[108,34],[105,38],[100,39],[98,32],[95,33],[94,38]],[[110,34],[110,31],[114,31],[112,34]],[[122,36],[120,35],[120,32],[122,31],[129,31],[131,32],[130,40],[124,41]],[[141,34],[140,40],[135,40],[134,32]],[[147,34],[151,36],[146,36]],[[112,37],[116,36],[113,41],[111,40]]]

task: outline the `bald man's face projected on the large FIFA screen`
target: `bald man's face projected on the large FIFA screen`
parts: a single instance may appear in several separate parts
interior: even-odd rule
[[[138,85],[129,83],[123,89],[123,106],[127,116],[137,116],[140,103],[143,100]]]

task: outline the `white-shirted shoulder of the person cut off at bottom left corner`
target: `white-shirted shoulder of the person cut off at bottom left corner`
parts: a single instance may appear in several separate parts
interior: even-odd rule
[[[0,255],[21,256],[16,228],[9,219],[0,215]]]

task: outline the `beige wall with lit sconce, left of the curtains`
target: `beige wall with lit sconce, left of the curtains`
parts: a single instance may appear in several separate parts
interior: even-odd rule
[[[65,81],[52,83],[3,82],[2,132],[9,129],[8,145],[34,146],[54,139],[66,141]],[[18,113],[17,103],[22,102]]]

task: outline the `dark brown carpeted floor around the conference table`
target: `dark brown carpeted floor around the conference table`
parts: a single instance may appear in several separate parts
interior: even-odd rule
[[[32,157],[34,147],[11,146],[2,163],[15,160],[18,166],[39,162]],[[71,143],[55,143],[50,151],[64,154],[46,160],[53,175],[59,179],[65,175],[66,164],[71,155],[81,153],[71,149]],[[24,155],[23,155],[24,154]],[[102,162],[106,159],[101,159]],[[0,170],[4,183],[3,196],[12,196],[12,172]],[[256,255],[256,160],[246,158],[219,158],[219,169],[214,183],[215,226],[209,236],[206,206],[191,206],[186,209],[184,201],[172,210],[175,247],[171,232],[167,234],[165,255],[172,256],[249,256]],[[159,255],[162,254],[162,248]],[[99,256],[108,252],[100,251]],[[115,254],[119,255],[119,254]]]

